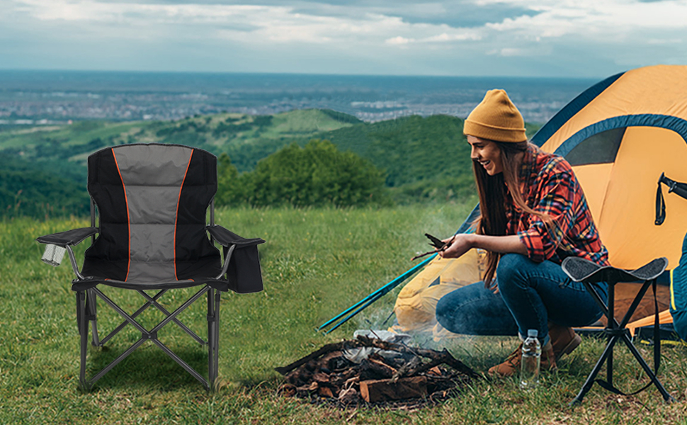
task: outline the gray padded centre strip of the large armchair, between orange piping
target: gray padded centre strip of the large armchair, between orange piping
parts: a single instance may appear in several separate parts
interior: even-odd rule
[[[125,186],[130,220],[131,263],[127,281],[176,279],[176,208],[191,152],[193,149],[181,146],[113,149]]]

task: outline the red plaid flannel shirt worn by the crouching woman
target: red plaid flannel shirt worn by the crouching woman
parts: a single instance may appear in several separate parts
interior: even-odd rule
[[[530,145],[519,178],[527,205],[549,215],[557,225],[548,229],[539,217],[518,208],[511,194],[506,194],[506,234],[520,237],[530,259],[560,264],[565,257],[579,256],[608,265],[608,250],[599,239],[582,188],[565,159]]]

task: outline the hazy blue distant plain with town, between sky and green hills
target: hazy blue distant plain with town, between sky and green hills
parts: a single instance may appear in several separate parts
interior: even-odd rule
[[[608,78],[608,77],[607,77]],[[176,119],[222,111],[274,115],[331,109],[374,122],[407,115],[465,117],[505,89],[543,123],[600,79],[300,73],[0,70],[0,125],[67,119]]]

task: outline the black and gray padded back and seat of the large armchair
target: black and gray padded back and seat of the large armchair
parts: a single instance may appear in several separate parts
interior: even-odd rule
[[[181,145],[121,145],[89,157],[88,189],[100,232],[84,276],[133,282],[217,276],[205,232],[217,158]]]

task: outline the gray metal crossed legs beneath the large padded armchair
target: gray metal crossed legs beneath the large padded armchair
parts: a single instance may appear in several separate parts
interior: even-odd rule
[[[162,307],[157,300],[164,295],[168,290],[159,290],[153,296],[145,293],[144,290],[137,290],[142,297],[146,300],[145,304],[142,305],[133,314],[128,314],[121,307],[119,307],[113,300],[105,295],[98,288],[89,288],[87,290],[76,291],[76,322],[79,327],[79,336],[81,337],[81,367],[79,371],[79,383],[81,387],[89,391],[93,384],[103,377],[110,369],[114,368],[123,361],[127,356],[129,356],[136,348],[140,347],[145,341],[152,341],[153,344],[157,345],[167,356],[172,358],[176,363],[181,365],[181,367],[190,373],[193,378],[200,381],[205,387],[205,390],[213,390],[215,387],[215,380],[217,379],[217,369],[219,367],[219,322],[220,322],[220,290],[210,287],[210,285],[205,285],[205,287],[198,290],[195,295],[190,297],[186,302],[179,306],[174,312],[169,312],[164,307]],[[189,306],[193,304],[200,297],[208,295],[208,341],[204,341],[198,334],[195,334],[191,329],[189,329],[185,324],[183,324],[179,319],[176,318],[178,314],[186,310]],[[124,318],[118,327],[108,334],[103,339],[98,339],[98,327],[97,327],[97,299],[98,297],[103,300],[107,305],[109,305],[115,312],[120,314]],[[136,317],[142,312],[147,310],[149,307],[155,307],[157,310],[165,315],[165,318],[159,322],[157,325],[152,327],[152,329],[146,329],[142,324],[137,322]],[[110,364],[106,365],[105,368],[100,370],[98,373],[93,375],[92,378],[86,378],[86,355],[88,353],[88,339],[89,339],[89,326],[88,322],[91,322],[92,329],[92,340],[91,344],[93,346],[103,346],[107,341],[109,341],[115,334],[118,334],[122,329],[124,329],[128,324],[135,327],[137,331],[141,332],[141,338],[127,348],[123,353],[120,354],[115,360]],[[186,332],[191,338],[195,339],[201,345],[208,345],[208,379],[203,378],[195,369],[188,365],[183,359],[171,351],[166,345],[162,343],[157,338],[157,332],[164,326],[174,322],[183,331]]]

